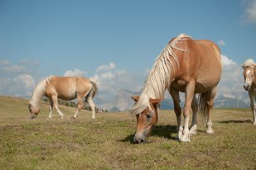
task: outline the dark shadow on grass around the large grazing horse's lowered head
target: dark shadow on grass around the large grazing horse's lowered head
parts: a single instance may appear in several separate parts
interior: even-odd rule
[[[176,125],[155,125],[152,128],[150,136],[159,136],[166,139],[176,139],[172,137],[171,134],[176,133]],[[133,135],[128,135],[125,139],[120,140],[121,142],[130,142],[133,143]]]

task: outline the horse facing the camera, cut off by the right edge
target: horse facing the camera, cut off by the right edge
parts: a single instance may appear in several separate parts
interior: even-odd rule
[[[253,59],[247,59],[242,67],[244,68],[244,89],[249,93],[254,125],[256,125],[256,64]]]

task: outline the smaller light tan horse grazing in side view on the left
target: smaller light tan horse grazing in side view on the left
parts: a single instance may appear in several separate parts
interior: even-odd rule
[[[73,100],[77,98],[77,110],[75,115],[71,119],[75,119],[80,110],[85,106],[85,102],[88,102],[92,109],[92,118],[95,118],[95,105],[93,97],[98,92],[97,85],[89,81],[87,78],[82,77],[56,77],[50,76],[41,80],[37,84],[31,101],[28,104],[30,111],[30,118],[36,118],[40,109],[41,97],[46,96],[50,101],[50,114],[48,116],[51,119],[52,108],[55,106],[56,111],[60,114],[61,119],[64,118],[63,113],[58,107],[58,98],[65,101]]]

